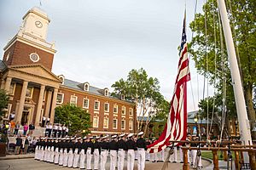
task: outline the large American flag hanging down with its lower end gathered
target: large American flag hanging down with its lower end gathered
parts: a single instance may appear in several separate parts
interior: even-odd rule
[[[187,136],[187,82],[190,80],[189,59],[187,53],[186,14],[183,20],[183,34],[179,50],[179,61],[174,94],[166,122],[160,138],[148,145],[148,152],[155,153],[170,145],[170,140],[184,140]],[[177,145],[174,144],[174,145]]]

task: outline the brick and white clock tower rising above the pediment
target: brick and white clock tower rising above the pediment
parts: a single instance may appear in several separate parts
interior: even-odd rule
[[[54,42],[47,42],[48,15],[38,7],[31,8],[22,18],[20,30],[5,46],[3,61],[6,65],[42,65],[51,71],[55,50]]]

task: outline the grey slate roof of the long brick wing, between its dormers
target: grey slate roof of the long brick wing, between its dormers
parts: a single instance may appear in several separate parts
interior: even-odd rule
[[[63,85],[64,87],[67,87],[67,88],[73,88],[75,90],[79,90],[81,92],[85,92],[84,91],[84,83],[88,83],[88,82],[75,82],[73,80],[69,80],[67,78],[64,78],[64,82],[63,82]],[[90,94],[96,94],[96,95],[101,95],[101,96],[105,96],[104,95],[104,89],[108,89],[108,88],[96,88],[96,87],[93,87],[93,86],[89,86],[89,93]],[[106,96],[105,96],[106,97]],[[111,99],[120,99],[120,98],[116,98],[116,97],[113,97],[111,96],[111,94],[109,93],[109,96],[108,98],[111,98]],[[131,101],[128,101],[128,100],[124,100],[125,102],[129,102],[129,103],[132,103]]]

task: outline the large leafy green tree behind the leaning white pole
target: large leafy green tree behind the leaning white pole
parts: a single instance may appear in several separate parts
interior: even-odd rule
[[[253,122],[255,122],[253,86],[255,86],[256,82],[256,3],[254,0],[236,0],[229,1],[227,7],[229,7],[228,14],[230,16],[231,28],[236,45],[236,54],[241,71],[247,113],[252,122],[251,126],[253,127]],[[216,1],[207,1],[203,7],[203,13],[196,14],[195,20],[190,23],[190,28],[195,32],[195,37],[192,38],[189,44],[189,52],[195,60],[197,71],[205,77],[208,77],[212,85],[214,84],[213,82],[216,81],[214,84],[214,88],[218,89],[216,95],[222,95],[224,92],[227,92],[227,100],[234,101],[234,94],[230,93],[228,90],[223,90],[224,85],[226,85],[227,89],[232,90],[232,81],[230,77],[230,66],[227,62],[224,37],[222,36],[224,33],[220,25],[221,19],[218,17]],[[214,61],[216,61],[216,63]],[[216,70],[215,65],[217,66]],[[230,102],[229,105],[230,109],[232,106],[233,108],[231,110],[235,111],[235,103],[233,102],[232,104],[232,102]]]

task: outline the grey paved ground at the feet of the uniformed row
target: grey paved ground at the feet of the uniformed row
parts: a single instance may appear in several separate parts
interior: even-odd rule
[[[202,161],[203,166],[207,167],[210,166],[210,162]],[[181,163],[168,163],[167,169],[182,169]],[[163,166],[163,162],[151,162],[146,161],[146,170],[160,170]],[[37,169],[37,170],[55,170],[55,169],[73,169],[68,167],[62,167],[55,164],[51,164],[44,161],[36,161],[33,158],[26,158],[26,159],[10,159],[10,160],[1,160],[0,161],[0,170],[30,170],[30,169]],[[107,168],[109,169],[109,160],[107,162]],[[125,168],[126,169],[126,162]],[[137,169],[137,161],[135,161],[135,170]],[[192,169],[192,168],[191,168]]]

